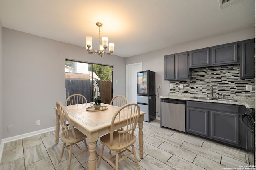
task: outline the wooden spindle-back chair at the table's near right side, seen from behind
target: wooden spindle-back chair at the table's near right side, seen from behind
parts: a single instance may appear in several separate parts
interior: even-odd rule
[[[134,149],[134,143],[136,141],[134,130],[138,123],[139,117],[140,107],[138,106],[138,104],[135,103],[125,104],[116,111],[116,113],[112,117],[110,133],[100,137],[102,148],[100,150],[100,157],[98,159],[97,167],[100,166],[100,160],[103,157],[108,163],[114,166],[116,170],[118,170],[118,163],[124,158],[127,158],[128,156],[133,154],[137,169],[140,168]],[[116,164],[112,162],[112,158],[109,159],[102,154],[105,146],[107,146],[108,149],[116,152],[116,155],[112,157],[116,158]],[[130,146],[132,147],[132,151],[128,149],[128,147]],[[125,151],[128,151],[128,154],[119,158],[119,155],[123,154]]]

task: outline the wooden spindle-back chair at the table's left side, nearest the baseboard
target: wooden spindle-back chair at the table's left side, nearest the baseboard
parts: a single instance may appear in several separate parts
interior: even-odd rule
[[[60,160],[62,160],[62,156],[64,153],[64,149],[68,151],[68,170],[70,170],[70,164],[71,164],[71,158],[74,158],[75,156],[78,156],[86,151],[88,151],[87,143],[86,143],[86,138],[87,136],[84,135],[82,132],[80,132],[78,129],[76,129],[73,125],[72,122],[70,121],[70,118],[68,116],[68,113],[66,112],[65,108],[60,102],[56,103],[57,109],[58,109],[58,114],[60,115],[60,125],[62,127],[62,134],[60,135],[61,140],[63,141],[62,145],[62,150],[60,153]],[[66,124],[66,121],[69,122],[69,127]],[[77,143],[84,141],[85,145],[85,150],[82,150]],[[69,145],[66,145],[69,144]],[[74,154],[72,156],[72,148],[73,145],[78,147],[80,150],[79,153]]]

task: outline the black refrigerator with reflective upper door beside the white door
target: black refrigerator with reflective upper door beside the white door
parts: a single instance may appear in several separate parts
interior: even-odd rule
[[[156,119],[156,80],[154,71],[137,72],[137,104],[146,112],[144,121]]]

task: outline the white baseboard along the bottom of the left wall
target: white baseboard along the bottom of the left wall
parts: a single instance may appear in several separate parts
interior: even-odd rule
[[[22,134],[22,135],[17,135],[17,136],[14,136],[14,137],[8,137],[8,138],[2,139],[1,144],[0,144],[0,162],[2,160],[2,154],[3,154],[3,150],[4,150],[4,143],[11,142],[11,141],[16,141],[18,139],[23,139],[23,138],[31,137],[31,136],[34,136],[34,135],[39,135],[39,134],[54,131],[54,130],[55,130],[55,126],[54,127],[49,127],[49,128],[46,128],[46,129],[42,129],[42,130],[39,130],[39,131],[34,131],[34,132],[25,133],[25,134]]]

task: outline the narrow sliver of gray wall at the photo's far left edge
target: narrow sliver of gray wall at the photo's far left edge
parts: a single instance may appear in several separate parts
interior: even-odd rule
[[[2,23],[0,20],[0,141],[3,139],[3,55],[2,55]]]

